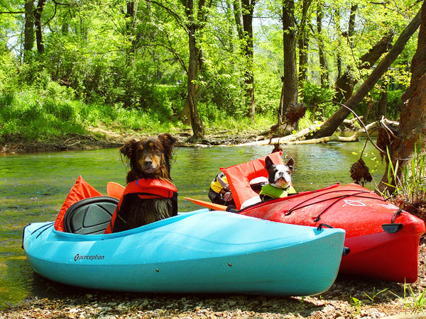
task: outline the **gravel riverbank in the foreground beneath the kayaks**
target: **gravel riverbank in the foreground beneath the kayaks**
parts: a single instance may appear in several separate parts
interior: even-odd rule
[[[386,318],[425,314],[426,246],[420,246],[419,279],[404,285],[339,276],[318,296],[277,297],[106,293],[84,291],[72,298],[28,298],[0,311],[18,318]],[[185,283],[182,283],[185,284]],[[67,286],[62,286],[66,289]],[[415,298],[413,298],[411,291]],[[411,316],[409,318],[412,318]],[[426,318],[422,315],[417,318]]]

